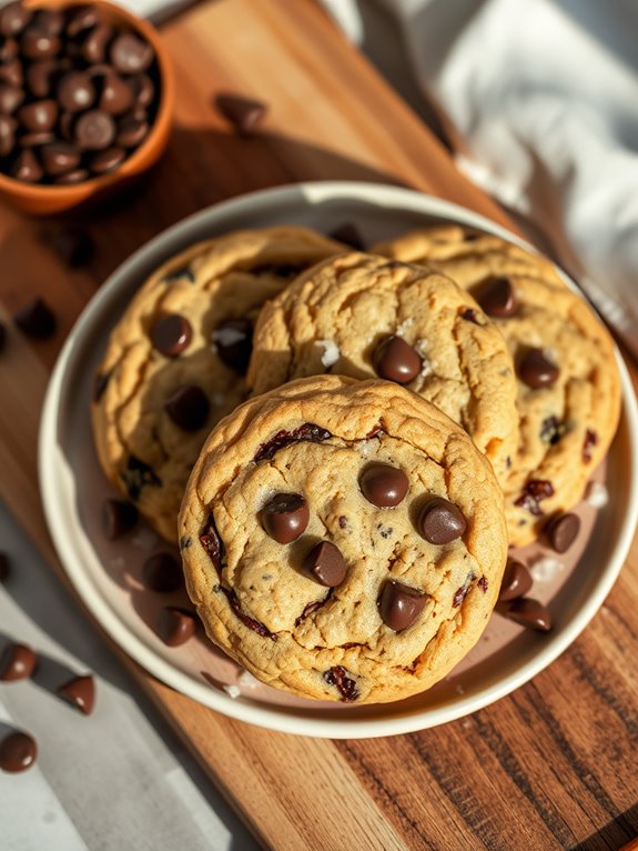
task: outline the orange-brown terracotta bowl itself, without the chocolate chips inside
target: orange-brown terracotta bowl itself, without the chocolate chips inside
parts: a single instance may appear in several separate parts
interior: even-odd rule
[[[68,9],[74,6],[85,6],[87,0],[24,0],[24,4],[31,9]],[[92,0],[91,4],[101,11],[102,18],[107,22],[129,27],[139,32],[152,46],[160,77],[155,120],[149,136],[121,166],[107,174],[90,178],[81,183],[73,186],[23,183],[0,173],[0,199],[36,216],[63,212],[84,201],[98,200],[123,188],[158,161],[169,141],[175,86],[168,52],[159,32],[148,21],[114,3],[107,2],[107,0]]]

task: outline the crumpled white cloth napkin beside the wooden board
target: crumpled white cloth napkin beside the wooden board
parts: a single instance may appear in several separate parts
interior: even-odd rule
[[[323,0],[361,34],[371,0]],[[381,0],[465,141],[458,166],[527,218],[638,357],[638,3]]]

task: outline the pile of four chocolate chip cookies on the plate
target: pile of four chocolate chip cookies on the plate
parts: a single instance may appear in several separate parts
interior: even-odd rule
[[[288,227],[159,269],[92,412],[209,637],[270,685],[365,703],[444,678],[499,593],[549,628],[508,547],[570,545],[619,408],[607,332],[543,258],[459,227],[371,253]]]

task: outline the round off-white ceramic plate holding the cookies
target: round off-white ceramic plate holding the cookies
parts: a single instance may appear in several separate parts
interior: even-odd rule
[[[184,602],[144,592],[141,563],[165,549],[145,528],[105,541],[100,509],[113,495],[98,465],[89,404],[92,376],[108,334],[145,277],[170,256],[201,239],[237,228],[306,224],[330,231],[356,222],[368,244],[424,224],[456,221],[521,243],[488,219],[417,192],[368,183],[306,183],[236,198],[176,224],[140,249],[103,284],[60,354],[40,429],[40,487],[55,548],[78,593],[114,641],[163,682],[242,721],[273,730],[331,738],[405,733],[460,718],[508,694],[556,659],[601,605],[626,558],[638,517],[638,417],[619,359],[624,408],[607,461],[610,500],[598,518],[583,503],[589,541],[571,548],[570,561],[534,595],[551,613],[549,634],[527,631],[494,615],[483,639],[442,683],[408,700],[369,707],[324,703],[240,680],[240,671],[205,638],[171,649],[152,629],[156,609]],[[573,571],[578,562],[578,571]],[[158,598],[158,599],[154,599]]]

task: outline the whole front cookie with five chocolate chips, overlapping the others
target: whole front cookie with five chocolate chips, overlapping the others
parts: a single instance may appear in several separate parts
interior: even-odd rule
[[[506,560],[503,494],[466,432],[396,382],[316,376],[211,432],[180,513],[209,637],[265,683],[401,700],[478,640]]]

